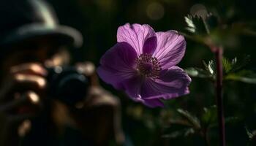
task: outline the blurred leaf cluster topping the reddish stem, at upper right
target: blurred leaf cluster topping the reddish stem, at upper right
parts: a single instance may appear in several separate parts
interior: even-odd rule
[[[248,23],[225,24],[225,20],[208,13],[205,17],[187,15],[184,17],[187,33],[181,33],[188,39],[207,46],[235,47],[239,35],[256,36],[252,25]],[[250,27],[249,27],[250,26]]]

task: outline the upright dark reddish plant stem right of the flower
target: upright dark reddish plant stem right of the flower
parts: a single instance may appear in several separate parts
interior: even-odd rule
[[[219,144],[220,146],[225,146],[225,118],[224,118],[224,108],[222,99],[222,47],[211,48],[214,50],[216,66],[217,66],[217,79],[216,79],[216,98],[217,98],[217,110],[218,110],[218,121],[219,121]]]

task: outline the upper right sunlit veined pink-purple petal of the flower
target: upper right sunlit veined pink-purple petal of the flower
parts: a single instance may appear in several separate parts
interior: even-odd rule
[[[162,69],[175,66],[183,58],[186,50],[186,41],[176,31],[157,32],[157,49],[153,57],[156,57]]]

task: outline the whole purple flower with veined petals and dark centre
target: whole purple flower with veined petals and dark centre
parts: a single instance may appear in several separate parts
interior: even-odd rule
[[[190,77],[176,66],[186,49],[176,31],[155,32],[146,24],[125,24],[117,43],[100,60],[99,77],[148,107],[163,107],[160,99],[189,93]]]

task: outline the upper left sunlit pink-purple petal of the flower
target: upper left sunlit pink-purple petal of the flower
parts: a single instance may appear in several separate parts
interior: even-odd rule
[[[154,29],[147,24],[130,25],[127,23],[124,26],[120,26],[117,31],[117,42],[129,43],[129,45],[135,48],[138,55],[143,53],[143,45],[151,37],[156,37],[156,33],[154,32]],[[148,47],[146,48],[148,51]]]

